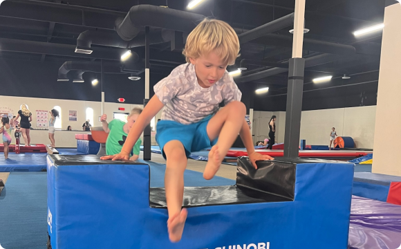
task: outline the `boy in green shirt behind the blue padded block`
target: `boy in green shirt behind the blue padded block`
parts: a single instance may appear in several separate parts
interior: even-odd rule
[[[104,131],[106,131],[106,133],[109,133],[109,136],[106,140],[107,155],[115,155],[120,153],[122,145],[124,145],[124,142],[127,139],[131,127],[133,126],[141,112],[142,109],[138,107],[132,109],[131,113],[129,113],[126,123],[118,119],[111,120],[110,123],[107,123],[107,115],[102,115],[102,118],[100,119],[100,121],[102,121],[102,127]],[[140,140],[140,138],[138,139],[138,141],[136,141],[136,144],[133,146],[133,149],[131,151],[131,157],[129,158],[129,160],[134,161],[139,158],[141,142],[142,140]]]

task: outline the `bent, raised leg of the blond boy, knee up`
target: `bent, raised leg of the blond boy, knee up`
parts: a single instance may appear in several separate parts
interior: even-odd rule
[[[246,107],[239,101],[230,102],[218,111],[207,124],[207,136],[212,141],[218,137],[217,143],[209,152],[209,160],[203,172],[207,180],[213,178],[220,167],[227,151],[232,147],[245,121]]]

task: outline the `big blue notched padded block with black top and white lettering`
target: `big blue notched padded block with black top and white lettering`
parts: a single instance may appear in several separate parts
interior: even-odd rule
[[[254,169],[248,158],[239,158],[236,185],[225,190],[186,187],[183,239],[171,243],[164,190],[149,189],[148,165],[48,155],[51,246],[347,248],[353,164],[292,160],[257,165]]]

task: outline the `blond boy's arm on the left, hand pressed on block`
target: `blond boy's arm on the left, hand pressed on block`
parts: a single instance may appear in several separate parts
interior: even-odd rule
[[[151,119],[156,116],[156,114],[164,107],[164,104],[160,102],[158,96],[155,94],[149,100],[149,103],[144,107],[142,113],[138,117],[138,120],[133,124],[131,131],[129,131],[127,140],[124,142],[124,146],[122,146],[120,154],[114,156],[102,156],[103,160],[113,159],[125,159],[129,160],[129,154],[131,154],[133,145],[135,145],[136,141],[142,134],[144,127],[147,126],[151,122]]]

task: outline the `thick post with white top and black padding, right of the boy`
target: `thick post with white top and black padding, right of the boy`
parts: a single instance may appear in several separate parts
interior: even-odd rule
[[[305,0],[296,0],[292,58],[289,61],[288,71],[286,136],[284,137],[285,158],[297,158],[299,156],[299,133],[301,131],[302,93],[304,91],[305,69],[305,59],[302,58],[304,18]]]

